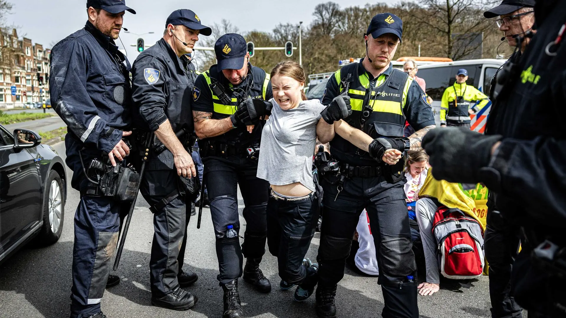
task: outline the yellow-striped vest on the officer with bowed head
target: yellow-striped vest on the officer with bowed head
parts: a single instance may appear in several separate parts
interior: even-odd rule
[[[204,79],[207,81],[208,88],[210,89],[212,94],[212,103],[214,106],[213,117],[215,118],[228,117],[234,114],[238,109],[238,98],[234,97],[235,94],[231,93],[230,89],[224,88],[225,92],[228,94],[228,97],[230,98],[229,104],[224,104],[220,100],[220,97],[216,96],[215,93],[212,91],[211,84],[213,79],[211,79],[210,71],[211,70],[204,72],[203,76]],[[250,91],[248,92],[248,96],[254,98],[261,98],[265,100],[265,94],[267,93],[267,87],[269,84],[269,74],[266,74],[263,70],[261,70],[261,68],[256,68],[256,67],[252,67],[252,72],[253,72],[252,74],[254,75],[254,85],[253,88],[251,88]]]

